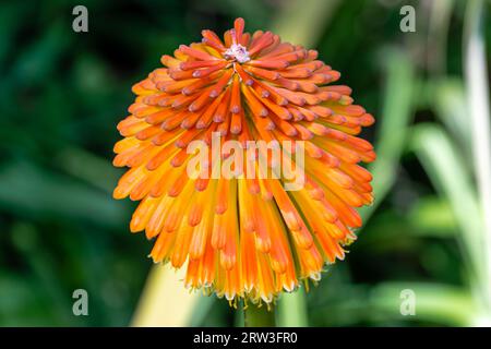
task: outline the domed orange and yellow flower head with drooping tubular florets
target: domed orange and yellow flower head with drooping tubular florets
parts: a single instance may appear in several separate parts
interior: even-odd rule
[[[340,74],[315,50],[243,28],[236,20],[224,40],[203,31],[201,44],[163,56],[166,68],[133,86],[137,97],[118,124],[124,139],[113,160],[130,170],[113,196],[141,201],[131,231],[155,238],[154,262],[188,262],[188,287],[270,303],[302,279],[319,280],[356,239],[354,207],[373,201],[372,177],[358,163],[375,159],[356,135],[374,120],[352,105],[351,88],[330,85]],[[304,172],[304,186],[286,191],[284,176],[260,176],[256,164],[255,178],[189,176],[188,145],[211,144],[214,134],[241,144],[294,142],[306,154],[303,166],[290,164]]]

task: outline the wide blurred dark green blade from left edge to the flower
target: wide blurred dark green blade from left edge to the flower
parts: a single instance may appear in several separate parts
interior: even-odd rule
[[[73,178],[16,161],[0,169],[0,207],[20,217],[69,217],[119,228],[127,206]]]

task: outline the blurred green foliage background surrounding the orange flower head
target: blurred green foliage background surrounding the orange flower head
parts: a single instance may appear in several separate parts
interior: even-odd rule
[[[88,33],[72,9],[88,9]],[[416,33],[403,33],[403,5]],[[0,325],[127,326],[152,262],[111,191],[130,87],[202,28],[273,29],[316,48],[372,112],[374,206],[347,260],[278,304],[282,325],[491,324],[489,1],[2,1]],[[474,44],[472,44],[474,43]],[[472,108],[472,106],[478,106]],[[482,165],[482,166],[481,166]],[[89,316],[74,316],[86,289]],[[400,314],[414,290],[416,315]],[[184,292],[184,290],[183,290]],[[185,304],[183,304],[185,305]],[[202,298],[189,325],[240,325]]]

